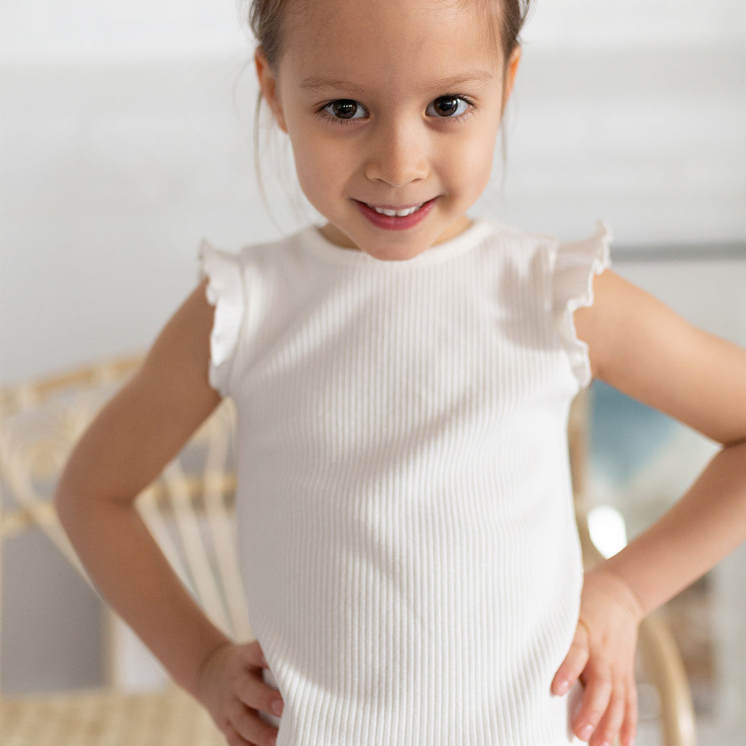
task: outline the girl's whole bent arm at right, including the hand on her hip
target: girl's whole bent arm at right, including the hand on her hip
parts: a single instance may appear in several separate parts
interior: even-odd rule
[[[692,327],[613,272],[574,313],[594,377],[720,442],[695,484],[626,548],[586,573],[580,621],[552,690],[586,685],[573,730],[623,746],[636,730],[639,621],[746,539],[746,352]]]

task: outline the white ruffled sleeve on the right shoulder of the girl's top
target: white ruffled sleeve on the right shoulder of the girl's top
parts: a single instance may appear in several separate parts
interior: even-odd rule
[[[611,266],[612,232],[598,221],[595,233],[585,241],[560,243],[554,253],[552,309],[554,324],[580,386],[591,382],[588,345],[577,338],[573,312],[593,304],[593,278]]]

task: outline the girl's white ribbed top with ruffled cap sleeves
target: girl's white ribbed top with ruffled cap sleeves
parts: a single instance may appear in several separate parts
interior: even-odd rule
[[[204,245],[278,746],[571,742],[550,694],[582,584],[568,305],[608,235],[568,251],[489,222],[404,262],[315,228]]]

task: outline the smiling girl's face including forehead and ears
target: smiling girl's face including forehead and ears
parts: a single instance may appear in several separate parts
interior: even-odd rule
[[[327,239],[404,260],[468,227],[520,56],[504,90],[485,22],[446,0],[290,4],[278,69],[257,51],[257,72]]]

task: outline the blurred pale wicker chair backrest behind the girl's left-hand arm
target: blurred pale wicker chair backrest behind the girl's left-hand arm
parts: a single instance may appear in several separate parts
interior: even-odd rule
[[[109,361],[1,392],[0,476],[16,504],[3,512],[3,538],[37,525],[86,577],[51,495],[75,442],[140,360]],[[225,401],[138,496],[137,508],[213,623],[243,640],[252,635],[233,541],[234,419]]]

